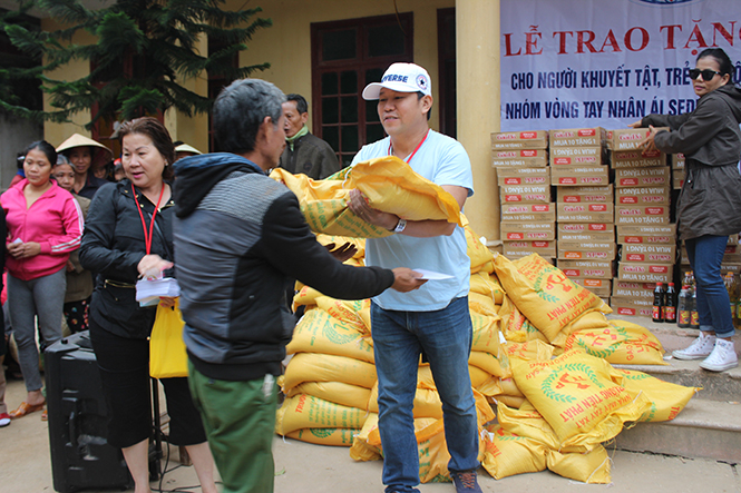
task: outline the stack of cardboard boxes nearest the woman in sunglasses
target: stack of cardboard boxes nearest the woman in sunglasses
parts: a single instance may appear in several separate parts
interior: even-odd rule
[[[607,136],[621,250],[611,306],[621,315],[651,316],[655,283],[672,282],[676,257],[675,228],[670,224],[671,169],[663,152],[637,148],[646,132],[621,129]]]

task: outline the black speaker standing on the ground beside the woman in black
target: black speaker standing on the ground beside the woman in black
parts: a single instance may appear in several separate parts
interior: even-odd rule
[[[131,487],[120,448],[106,440],[106,402],[89,332],[49,346],[45,364],[53,489]]]

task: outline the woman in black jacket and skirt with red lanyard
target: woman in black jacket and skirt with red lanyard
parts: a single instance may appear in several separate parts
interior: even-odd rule
[[[156,307],[140,307],[135,283],[173,267],[172,189],[164,175],[175,160],[167,129],[154,118],[119,132],[126,179],[95,195],[80,263],[99,274],[90,303],[90,338],[110,414],[108,443],[124,452],[135,493],[149,493],[149,342]],[[173,298],[160,298],[173,306]],[[204,492],[215,493],[213,459],[187,378],[163,378],[170,416],[169,441],[185,445]]]

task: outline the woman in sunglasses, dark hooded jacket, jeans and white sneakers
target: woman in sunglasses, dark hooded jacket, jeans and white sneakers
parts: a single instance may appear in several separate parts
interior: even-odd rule
[[[689,71],[700,96],[694,111],[649,115],[632,127],[649,127],[646,150],[682,152],[686,177],[676,208],[680,239],[686,245],[698,284],[700,336],[677,359],[704,359],[700,367],[723,372],[738,366],[731,337],[735,333],[730,299],[721,278],[729,235],[741,230],[741,89],[734,85],[733,63],[720,48],[698,56]],[[669,127],[656,131],[654,126]]]

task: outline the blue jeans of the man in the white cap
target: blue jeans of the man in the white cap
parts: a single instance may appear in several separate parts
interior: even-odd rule
[[[468,373],[472,338],[468,297],[456,298],[435,312],[384,310],[373,303],[371,324],[386,491],[418,492],[412,407],[422,352],[442,401],[448,470],[477,469],[478,424]]]

